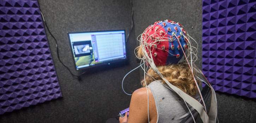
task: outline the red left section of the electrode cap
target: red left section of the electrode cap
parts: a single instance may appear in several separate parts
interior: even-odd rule
[[[157,27],[158,27],[158,29],[155,31],[155,29]],[[160,35],[160,31],[163,31],[162,36]],[[154,39],[156,39],[156,37],[159,37],[159,39],[168,40],[166,31],[164,30],[164,28],[161,25],[156,24],[156,25],[153,25],[153,29],[152,28],[147,29],[147,31],[145,32],[146,38],[148,37],[147,43],[152,43],[155,41],[153,39],[152,40],[150,39],[150,35],[152,35],[152,34],[153,34]],[[151,47],[154,63],[156,66],[165,65],[167,57],[168,57],[167,51],[169,51],[169,42],[168,41],[157,41],[155,44],[156,44],[157,48],[154,48],[154,44]],[[165,50],[162,50],[162,46],[165,46]],[[148,50],[147,50],[147,52],[148,52]],[[156,53],[156,57],[154,57],[154,53]]]

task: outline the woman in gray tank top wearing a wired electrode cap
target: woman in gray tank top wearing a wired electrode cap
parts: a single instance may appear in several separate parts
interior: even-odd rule
[[[129,117],[128,113],[119,117],[120,123],[180,123],[190,115],[189,109],[194,109],[168,86],[169,82],[178,88],[176,90],[200,99],[199,81],[195,82],[191,72],[196,56],[192,56],[193,47],[182,27],[170,20],[158,21],[141,34],[140,46],[136,48],[137,57],[147,60],[150,67],[141,81],[142,86],[148,88],[133,92]]]

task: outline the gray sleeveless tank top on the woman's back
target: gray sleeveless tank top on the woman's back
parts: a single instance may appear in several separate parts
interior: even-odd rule
[[[157,123],[183,123],[185,118],[190,115],[189,110],[182,98],[180,98],[175,92],[169,90],[163,86],[160,80],[154,81],[148,85],[151,90],[156,104],[157,111]],[[165,84],[167,87],[168,85]],[[194,96],[199,101],[200,95]],[[192,108],[187,104],[192,112]]]

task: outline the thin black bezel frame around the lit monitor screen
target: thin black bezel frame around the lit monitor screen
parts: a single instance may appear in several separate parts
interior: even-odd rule
[[[72,45],[71,45],[71,40],[70,40],[70,34],[73,34],[73,33],[90,33],[90,32],[112,32],[112,31],[124,31],[124,38],[125,38],[125,53],[126,53],[126,58],[125,59],[116,59],[116,60],[111,60],[111,61],[108,61],[108,62],[103,62],[103,63],[99,63],[99,64],[95,64],[95,65],[90,65],[88,67],[82,67],[82,68],[79,68],[77,70],[77,67],[76,67],[76,61],[75,61],[75,57],[74,57],[74,52],[73,52],[73,48],[72,48]],[[85,70],[85,69],[90,69],[90,68],[95,68],[95,67],[99,67],[99,66],[109,66],[109,65],[112,65],[113,63],[117,63],[117,62],[120,62],[120,63],[124,63],[124,62],[127,62],[127,44],[126,44],[126,34],[125,34],[125,30],[105,30],[105,31],[82,31],[82,32],[67,32],[67,35],[68,35],[68,38],[69,38],[69,45],[70,45],[70,50],[72,52],[72,58],[73,58],[73,63],[74,63],[74,67],[75,67],[75,70],[76,71],[80,71],[80,70]]]

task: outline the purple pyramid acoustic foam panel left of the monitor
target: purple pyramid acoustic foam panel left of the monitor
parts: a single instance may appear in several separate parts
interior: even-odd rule
[[[0,1],[0,114],[62,97],[36,0]]]

